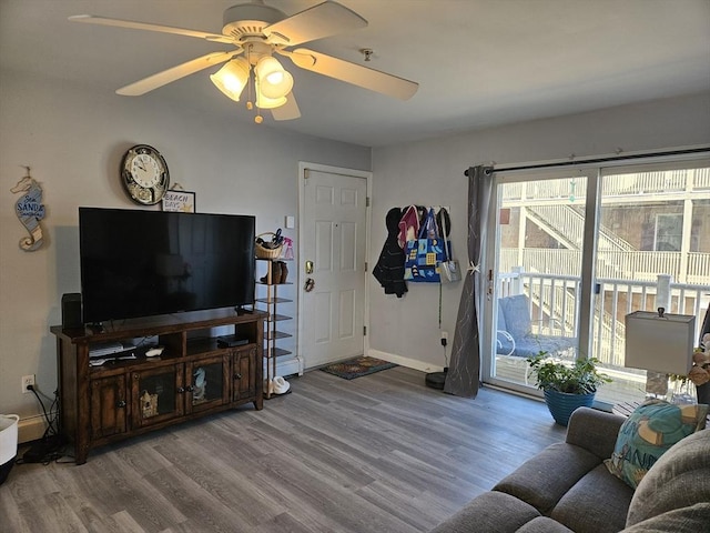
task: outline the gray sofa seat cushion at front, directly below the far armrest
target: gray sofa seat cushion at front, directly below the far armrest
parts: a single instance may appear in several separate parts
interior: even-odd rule
[[[494,491],[519,497],[541,514],[549,514],[565,493],[599,464],[601,459],[594,453],[556,442],[504,477]]]

